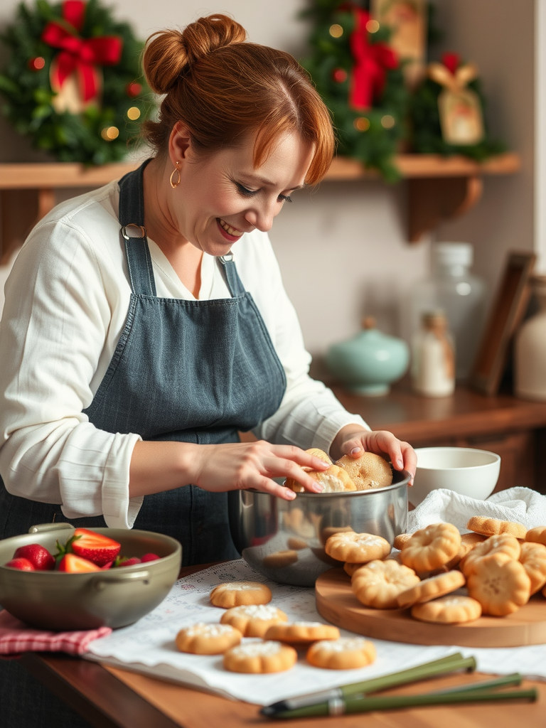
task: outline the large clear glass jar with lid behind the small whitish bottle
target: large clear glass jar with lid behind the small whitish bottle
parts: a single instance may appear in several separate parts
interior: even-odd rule
[[[411,332],[422,315],[443,309],[456,348],[456,379],[467,379],[483,330],[486,286],[470,273],[473,249],[467,242],[438,242],[432,247],[432,274],[411,293]]]

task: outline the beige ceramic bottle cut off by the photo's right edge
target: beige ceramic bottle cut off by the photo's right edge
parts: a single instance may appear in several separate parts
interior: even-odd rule
[[[539,310],[515,337],[514,389],[526,400],[546,400],[546,276],[531,279]]]

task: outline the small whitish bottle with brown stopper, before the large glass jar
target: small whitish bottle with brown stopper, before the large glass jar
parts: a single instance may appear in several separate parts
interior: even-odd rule
[[[443,311],[422,315],[411,347],[411,379],[418,395],[447,397],[455,389],[455,347]]]

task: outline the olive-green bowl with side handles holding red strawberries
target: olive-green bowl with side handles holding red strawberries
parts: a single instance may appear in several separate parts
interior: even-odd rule
[[[92,529],[122,545],[125,556],[156,553],[157,561],[119,569],[65,574],[62,571],[18,571],[4,566],[15,549],[39,543],[55,552],[74,532],[68,523],[33,526],[28,534],[0,541],[0,605],[29,625],[47,630],[123,627],[151,612],[170,591],[180,572],[178,541],[151,531]]]

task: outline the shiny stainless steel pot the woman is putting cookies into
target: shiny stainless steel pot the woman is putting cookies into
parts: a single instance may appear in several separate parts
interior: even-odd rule
[[[387,488],[346,493],[298,493],[292,501],[259,491],[229,493],[232,538],[242,558],[275,582],[314,586],[317,577],[341,566],[325,553],[334,531],[382,536],[392,546],[408,521],[410,474],[393,470]]]

